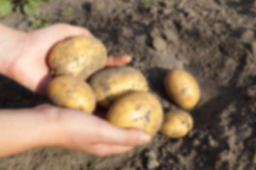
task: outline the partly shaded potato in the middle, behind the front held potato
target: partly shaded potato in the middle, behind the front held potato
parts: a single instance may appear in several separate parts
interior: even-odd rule
[[[149,90],[144,75],[132,67],[104,69],[92,75],[89,84],[102,108],[109,108],[117,98],[129,91]]]

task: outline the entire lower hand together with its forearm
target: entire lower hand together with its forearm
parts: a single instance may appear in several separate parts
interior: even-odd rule
[[[1,111],[0,133],[0,157],[46,146],[102,157],[127,152],[150,140],[141,130],[115,128],[94,115],[50,105]]]

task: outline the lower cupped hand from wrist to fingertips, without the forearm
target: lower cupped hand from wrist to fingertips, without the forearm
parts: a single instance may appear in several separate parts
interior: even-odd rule
[[[105,156],[127,152],[150,141],[150,136],[142,130],[116,128],[82,111],[50,105],[38,106],[36,110],[46,115],[48,123],[57,125],[57,130],[50,138],[54,139],[53,144],[60,147]]]

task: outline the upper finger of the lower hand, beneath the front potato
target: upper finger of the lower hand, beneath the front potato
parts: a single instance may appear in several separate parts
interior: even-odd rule
[[[142,130],[124,130],[114,127],[104,120],[99,120],[95,135],[98,142],[112,145],[142,145],[150,142],[151,137]]]

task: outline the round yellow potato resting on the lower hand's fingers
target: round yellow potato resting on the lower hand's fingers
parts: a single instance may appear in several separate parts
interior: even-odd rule
[[[156,96],[133,91],[119,98],[107,112],[107,120],[119,128],[140,129],[152,137],[161,128],[163,109]]]

